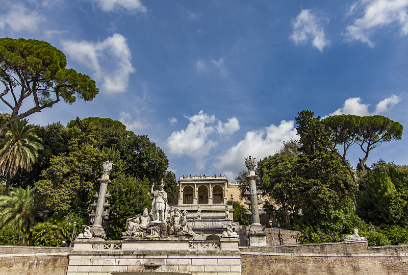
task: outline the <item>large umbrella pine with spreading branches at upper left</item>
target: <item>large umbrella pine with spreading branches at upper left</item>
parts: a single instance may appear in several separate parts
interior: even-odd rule
[[[47,42],[0,38],[0,81],[5,86],[0,98],[11,109],[11,122],[52,107],[61,99],[71,104],[77,97],[84,101],[95,97],[95,82],[66,65],[64,53]],[[13,101],[8,101],[9,93]],[[28,97],[34,106],[20,113],[23,99]]]

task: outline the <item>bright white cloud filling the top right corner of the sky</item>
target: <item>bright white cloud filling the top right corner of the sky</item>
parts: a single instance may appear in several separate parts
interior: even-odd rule
[[[348,40],[358,40],[370,47],[374,43],[370,36],[379,28],[398,24],[401,35],[408,34],[408,0],[361,0],[352,6],[364,9],[364,15],[347,26],[345,34]]]

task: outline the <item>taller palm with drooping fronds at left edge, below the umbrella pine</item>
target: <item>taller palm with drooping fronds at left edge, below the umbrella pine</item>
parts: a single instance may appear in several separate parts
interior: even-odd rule
[[[31,171],[37,161],[38,149],[43,148],[33,131],[35,126],[28,122],[25,118],[10,122],[0,139],[0,172],[7,177],[5,195],[8,194],[10,177],[18,170]]]

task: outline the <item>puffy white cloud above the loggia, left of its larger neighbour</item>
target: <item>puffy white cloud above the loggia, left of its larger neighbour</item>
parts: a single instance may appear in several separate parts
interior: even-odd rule
[[[221,135],[231,135],[239,129],[238,119],[233,117],[228,122],[222,123],[214,115],[204,113],[202,110],[193,116],[185,116],[189,124],[185,130],[174,131],[166,141],[165,146],[170,154],[187,155],[197,160],[197,166],[202,164],[211,148],[217,145]]]

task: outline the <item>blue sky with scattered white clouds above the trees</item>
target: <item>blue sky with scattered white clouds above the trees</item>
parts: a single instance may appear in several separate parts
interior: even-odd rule
[[[31,123],[120,120],[163,148],[177,177],[234,180],[245,157],[297,138],[304,109],[408,122],[408,0],[0,5],[1,37],[49,42],[99,88],[93,101],[60,102]],[[367,163],[408,164],[406,136],[373,149]],[[359,157],[354,145],[347,158],[355,166]]]

